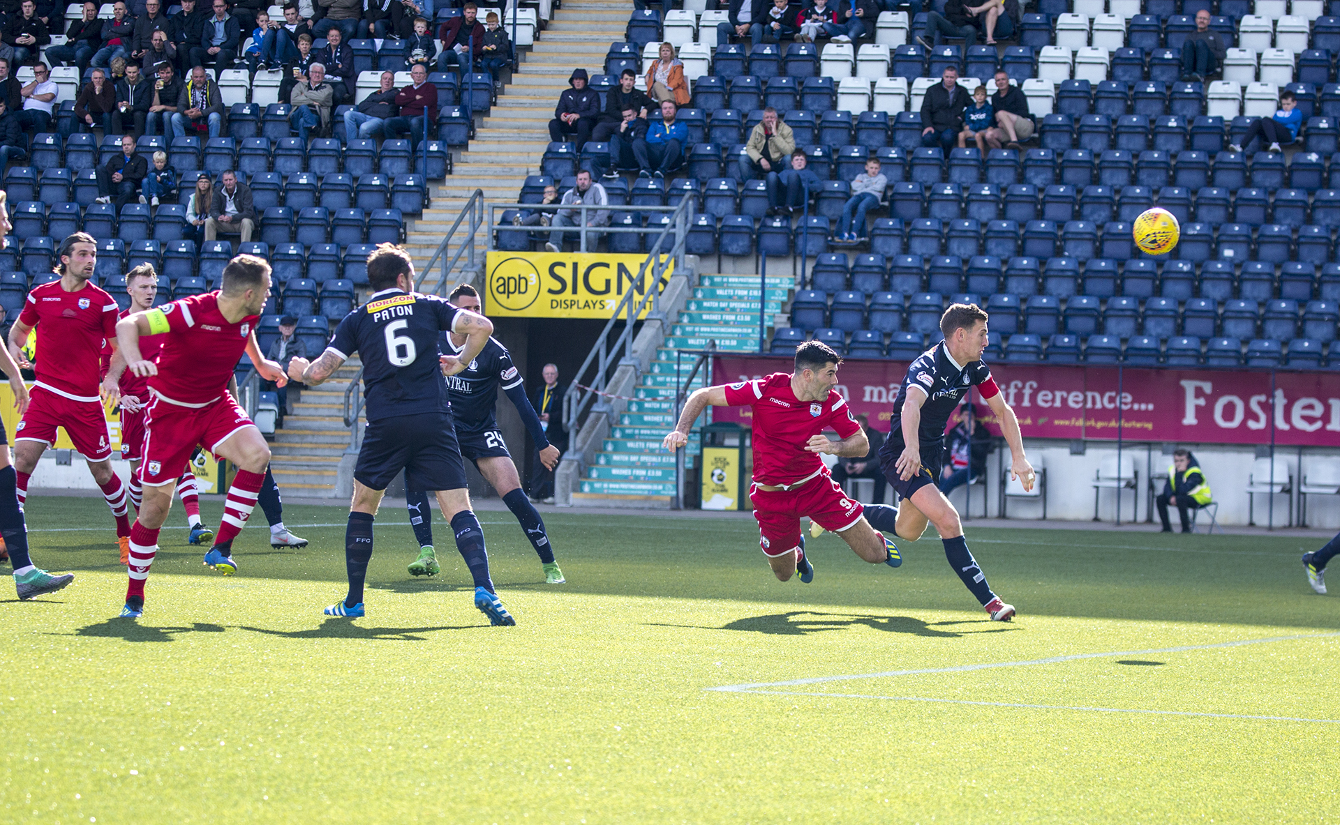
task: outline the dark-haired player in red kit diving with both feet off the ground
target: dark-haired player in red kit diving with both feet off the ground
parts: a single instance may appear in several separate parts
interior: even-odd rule
[[[827,344],[805,342],[796,347],[796,371],[789,375],[773,372],[757,380],[695,391],[685,403],[679,423],[665,438],[670,451],[685,446],[693,422],[709,404],[753,408],[749,501],[758,520],[760,545],[781,581],[797,572],[801,581],[813,580],[815,568],[805,557],[800,534],[804,516],[842,536],[871,564],[903,562],[894,542],[870,526],[860,502],[843,493],[819,458],[820,453],[860,457],[870,449],[847,399],[833,390],[840,363],[842,356]],[[821,434],[824,430],[836,430],[843,441],[829,441]]]

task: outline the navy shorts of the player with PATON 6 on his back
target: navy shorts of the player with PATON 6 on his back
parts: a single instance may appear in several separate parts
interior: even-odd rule
[[[367,425],[354,478],[364,487],[385,490],[402,470],[410,490],[466,486],[450,415],[401,415]]]

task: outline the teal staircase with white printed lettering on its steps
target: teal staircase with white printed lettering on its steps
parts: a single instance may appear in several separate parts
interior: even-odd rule
[[[766,335],[777,323],[787,325],[784,311],[795,289],[795,279],[768,277],[764,305]],[[675,457],[661,446],[674,425],[677,378],[675,352],[704,350],[708,342],[725,354],[758,352],[758,276],[699,275],[685,309],[657,350],[646,375],[638,380],[634,400],[628,402],[618,423],[610,429],[595,463],[586,469],[580,492],[572,493],[574,506],[632,505],[669,508],[675,493]],[[687,376],[697,355],[679,356],[682,376]],[[714,375],[714,383],[736,376]],[[691,388],[704,386],[704,375]],[[694,466],[701,453],[698,429],[689,437],[686,467]]]

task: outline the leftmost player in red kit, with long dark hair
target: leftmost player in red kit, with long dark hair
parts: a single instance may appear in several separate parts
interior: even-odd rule
[[[111,434],[99,396],[103,343],[115,339],[121,308],[88,281],[98,265],[98,241],[91,234],[71,234],[60,244],[59,256],[60,280],[34,287],[9,329],[9,355],[20,367],[29,366],[23,346],[28,333],[38,331],[38,380],[15,431],[19,504],[28,497],[28,477],[38,459],[55,443],[56,429],[64,427],[88,462],[122,540],[130,536],[130,496],[125,479],[111,469]]]

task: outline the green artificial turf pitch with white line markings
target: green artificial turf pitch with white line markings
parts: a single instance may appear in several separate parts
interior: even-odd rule
[[[494,628],[440,517],[442,575],[411,580],[383,510],[351,621],[320,613],[340,509],[287,509],[302,550],[249,528],[233,577],[178,510],[131,621],[103,502],[28,513],[38,564],[79,577],[0,593],[0,822],[1340,817],[1340,601],[1308,589],[1298,538],[969,522],[1020,611],[993,624],[934,537],[894,571],[824,536],[813,584],[783,584],[748,518],[564,512],[549,587],[485,512],[517,619]]]

